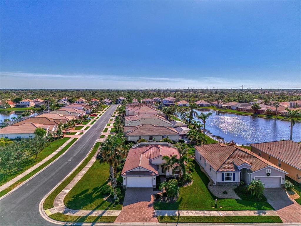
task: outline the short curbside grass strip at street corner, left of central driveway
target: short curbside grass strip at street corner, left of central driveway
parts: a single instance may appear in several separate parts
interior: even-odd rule
[[[114,222],[117,218],[117,216],[70,216],[62,213],[54,213],[49,217],[65,222]]]

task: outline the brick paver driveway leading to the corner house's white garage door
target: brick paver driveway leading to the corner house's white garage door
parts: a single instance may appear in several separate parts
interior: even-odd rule
[[[152,188],[126,188],[123,208],[115,222],[158,222]]]

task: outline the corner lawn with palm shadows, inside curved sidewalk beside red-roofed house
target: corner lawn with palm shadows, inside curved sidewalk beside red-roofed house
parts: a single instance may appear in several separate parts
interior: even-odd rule
[[[108,183],[109,175],[109,165],[95,161],[65,197],[64,203],[67,208],[82,210],[105,210],[110,208],[121,210],[121,204],[114,207],[112,202],[104,199],[107,195],[101,193],[101,188]]]

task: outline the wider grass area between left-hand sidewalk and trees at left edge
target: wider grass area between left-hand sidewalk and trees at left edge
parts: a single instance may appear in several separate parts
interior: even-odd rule
[[[1,178],[0,185],[7,183],[8,181],[13,179],[14,177],[17,177],[18,175],[20,175],[24,171],[28,170],[29,168],[33,167],[37,163],[41,162],[48,155],[50,155],[56,149],[61,147],[69,139],[70,139],[70,137],[64,137],[62,139],[52,141],[48,147],[44,148],[44,150],[42,150],[42,152],[40,152],[38,154],[36,159],[35,159],[36,156],[33,156],[27,162],[24,162],[23,164],[21,164],[21,169],[20,170],[14,170],[14,171],[11,171],[11,172],[1,172],[0,173],[0,178]]]

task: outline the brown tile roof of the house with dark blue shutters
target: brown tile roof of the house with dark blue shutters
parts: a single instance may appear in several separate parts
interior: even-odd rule
[[[251,165],[250,169],[248,170],[250,173],[267,166],[272,166],[284,171],[283,169],[259,157],[248,149],[235,145],[220,145],[219,143],[213,143],[197,145],[194,147],[215,171],[239,171],[236,164],[241,165],[242,162]]]

